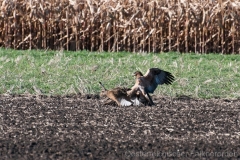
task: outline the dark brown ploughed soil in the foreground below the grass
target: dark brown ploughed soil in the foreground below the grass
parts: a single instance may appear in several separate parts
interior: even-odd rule
[[[0,159],[239,159],[240,100],[0,95]]]

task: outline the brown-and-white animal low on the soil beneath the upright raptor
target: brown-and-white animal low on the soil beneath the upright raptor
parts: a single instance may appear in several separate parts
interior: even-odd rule
[[[116,87],[111,90],[107,90],[101,82],[99,83],[104,88],[104,91],[100,93],[100,96],[107,96],[111,100],[115,101],[118,106],[139,106],[141,103],[145,105],[149,103],[148,99],[146,99],[139,90],[131,91],[131,88],[125,87]]]

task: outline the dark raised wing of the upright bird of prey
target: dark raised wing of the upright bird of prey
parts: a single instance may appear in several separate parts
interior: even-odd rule
[[[158,85],[169,85],[174,81],[174,76],[170,72],[159,68],[150,68],[143,77],[145,81],[143,82],[143,84],[145,84],[145,92],[148,93],[153,93]]]

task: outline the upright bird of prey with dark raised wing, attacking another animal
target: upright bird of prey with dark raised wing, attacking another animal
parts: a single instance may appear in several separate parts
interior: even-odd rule
[[[136,78],[136,83],[131,88],[131,92],[140,90],[142,94],[149,99],[151,105],[154,105],[154,103],[149,93],[153,93],[158,85],[169,85],[174,81],[174,76],[170,72],[159,68],[150,68],[145,75],[143,75],[140,71],[136,71],[134,76]]]

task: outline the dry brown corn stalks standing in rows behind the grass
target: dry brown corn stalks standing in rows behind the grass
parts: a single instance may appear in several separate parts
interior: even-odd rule
[[[240,53],[238,0],[0,0],[0,47]]]

